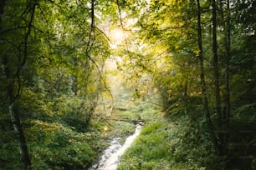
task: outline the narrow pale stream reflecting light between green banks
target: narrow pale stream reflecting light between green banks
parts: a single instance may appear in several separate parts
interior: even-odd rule
[[[114,138],[110,142],[110,147],[103,152],[100,161],[95,163],[89,170],[115,170],[120,162],[120,157],[131,146],[131,143],[139,136],[140,132],[141,125],[137,124],[135,133],[126,138],[123,145],[118,142],[119,138]]]

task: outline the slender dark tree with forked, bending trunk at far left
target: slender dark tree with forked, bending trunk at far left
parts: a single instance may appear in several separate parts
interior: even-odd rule
[[[5,1],[1,2],[1,21],[3,15]],[[27,7],[25,8],[24,14],[28,14],[27,16],[22,16],[22,19],[25,22],[25,26],[22,27],[20,23],[13,23],[13,28],[23,29],[22,40],[18,41],[19,44],[15,44],[15,42],[10,43],[11,48],[14,48],[16,52],[17,59],[14,60],[16,63],[13,63],[12,54],[10,52],[4,52],[2,54],[2,63],[3,63],[3,71],[4,71],[4,78],[7,82],[6,84],[6,92],[5,92],[5,99],[6,105],[5,110],[9,112],[9,115],[13,122],[14,132],[17,133],[18,136],[18,144],[21,153],[21,160],[23,164],[23,169],[30,169],[31,168],[31,160],[30,155],[28,153],[28,146],[26,142],[26,138],[23,132],[23,126],[20,118],[19,112],[19,102],[20,102],[20,94],[22,89],[22,82],[21,82],[21,74],[23,70],[23,66],[26,64],[27,57],[28,57],[28,39],[31,35],[32,28],[33,28],[33,18],[36,10],[37,2],[31,0],[27,3]],[[10,13],[10,12],[9,12]],[[7,22],[7,21],[5,21]],[[2,27],[1,27],[2,28]],[[0,30],[2,30],[0,28]],[[9,29],[9,28],[7,28]],[[3,32],[1,32],[1,37],[4,37]],[[4,38],[3,38],[4,39]],[[7,41],[8,42],[8,41]]]

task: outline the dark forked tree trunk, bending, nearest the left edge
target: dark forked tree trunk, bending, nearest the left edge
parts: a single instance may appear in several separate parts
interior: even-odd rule
[[[3,25],[3,21],[2,21],[2,16],[3,16],[3,10],[4,10],[4,6],[5,6],[5,0],[0,2],[0,31],[2,30],[2,25]],[[35,6],[34,6],[35,7]],[[32,20],[33,20],[33,13],[34,13],[34,8],[33,8],[33,12],[32,12]],[[27,142],[26,142],[26,138],[23,132],[23,127],[22,127],[22,123],[19,117],[19,113],[18,113],[18,98],[19,98],[19,90],[20,90],[20,71],[21,68],[24,65],[25,59],[27,57],[27,42],[28,42],[28,35],[30,34],[30,29],[31,29],[31,23],[32,21],[30,21],[29,26],[30,28],[28,28],[28,33],[25,35],[24,37],[24,58],[23,61],[20,61],[21,63],[18,63],[18,67],[17,67],[17,72],[12,72],[11,71],[11,64],[10,61],[8,60],[8,56],[6,54],[3,55],[3,60],[2,60],[2,64],[3,64],[3,71],[5,74],[5,78],[6,78],[6,82],[8,82],[7,86],[5,87],[5,97],[7,99],[7,110],[8,113],[11,117],[11,120],[13,122],[13,128],[14,128],[14,132],[18,135],[18,145],[20,148],[20,153],[21,153],[21,159],[22,159],[22,165],[23,165],[23,169],[31,169],[31,160],[30,160],[30,156],[28,153],[28,146],[27,146]],[[15,64],[14,64],[15,65]],[[17,94],[15,94],[16,92],[16,87],[18,84],[18,92]]]

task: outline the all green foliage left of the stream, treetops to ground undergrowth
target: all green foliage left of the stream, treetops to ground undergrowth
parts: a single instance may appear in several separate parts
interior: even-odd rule
[[[87,0],[1,1],[0,6],[1,168],[88,168],[106,145],[101,122],[90,123],[105,90],[102,67],[110,56],[95,13],[105,16],[110,8]],[[20,120],[13,120],[9,107]],[[18,122],[23,126],[13,132]],[[31,163],[23,153],[20,158],[15,143],[28,146]]]

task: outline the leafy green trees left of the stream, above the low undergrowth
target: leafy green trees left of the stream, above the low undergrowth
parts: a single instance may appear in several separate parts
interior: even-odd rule
[[[28,130],[36,127],[33,121],[63,123],[83,133],[89,126],[105,88],[99,66],[109,57],[109,42],[95,24],[97,7],[95,1],[0,3],[0,115],[11,119],[18,134],[24,169],[31,168],[37,151]],[[18,158],[13,165],[3,162],[8,166],[19,168]]]

